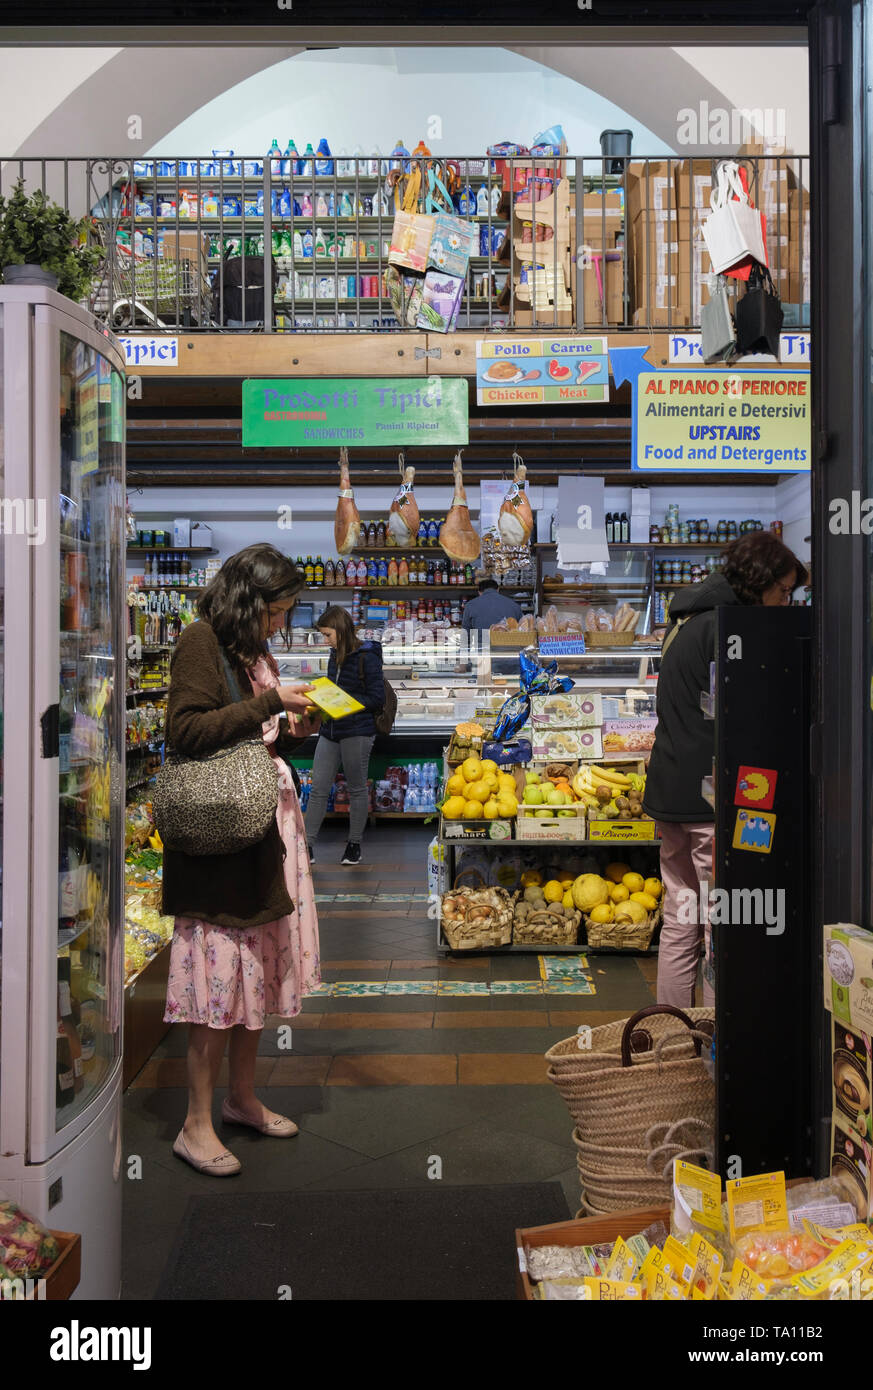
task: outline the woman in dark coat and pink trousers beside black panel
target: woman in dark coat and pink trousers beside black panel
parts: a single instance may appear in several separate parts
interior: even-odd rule
[[[712,776],[713,724],[701,709],[716,656],[716,609],[733,605],[776,607],[791,602],[808,573],[770,531],[751,531],[733,541],[724,564],[670,605],[658,677],[658,730],[649,759],[644,809],[658,821],[664,920],[658,951],[658,1002],[694,1004],[701,933],[691,902],[701,881],[712,881],[715,812],[701,794]],[[680,897],[681,895],[681,897]],[[703,1002],[712,1004],[709,941],[703,966]]]

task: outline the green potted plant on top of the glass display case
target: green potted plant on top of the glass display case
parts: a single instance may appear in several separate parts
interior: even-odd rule
[[[25,193],[18,179],[0,197],[0,268],[7,285],[47,285],[79,303],[88,295],[101,253],[79,245],[88,218],[75,221],[42,189]]]

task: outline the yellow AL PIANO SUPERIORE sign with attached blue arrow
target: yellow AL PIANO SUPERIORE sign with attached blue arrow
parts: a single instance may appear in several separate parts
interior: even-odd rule
[[[635,349],[626,349],[634,353]],[[651,371],[639,356],[616,363],[630,379],[633,467],[641,473],[809,473],[806,371]],[[635,368],[635,370],[634,370]]]

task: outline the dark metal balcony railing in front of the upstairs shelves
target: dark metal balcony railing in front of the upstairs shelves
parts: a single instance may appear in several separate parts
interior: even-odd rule
[[[720,158],[441,158],[462,190],[455,215],[475,238],[464,282],[442,275],[442,292],[457,292],[452,328],[696,327],[709,297],[701,222]],[[805,328],[809,160],[742,163],[785,327]],[[0,161],[0,195],[22,178],[89,218],[104,256],[88,303],[120,332],[432,331],[416,317],[414,278],[391,272],[393,300],[386,284],[398,181],[414,167],[427,178],[428,164],[11,158]]]

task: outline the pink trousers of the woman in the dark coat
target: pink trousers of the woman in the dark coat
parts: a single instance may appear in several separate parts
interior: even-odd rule
[[[659,821],[660,877],[664,885],[664,920],[658,948],[658,1002],[677,1009],[694,1004],[701,938],[710,958],[708,913],[701,912],[701,883],[712,887],[712,844],[709,821],[685,824]],[[715,1004],[710,970],[703,970],[703,1005]]]

